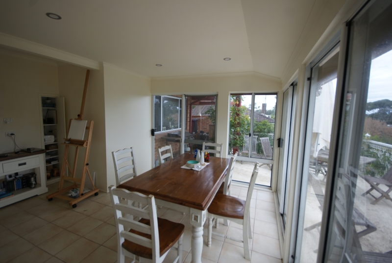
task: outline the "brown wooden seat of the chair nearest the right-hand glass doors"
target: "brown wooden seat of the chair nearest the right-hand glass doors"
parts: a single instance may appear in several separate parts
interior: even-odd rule
[[[224,217],[244,219],[245,200],[225,194],[217,194],[208,207],[208,212]]]

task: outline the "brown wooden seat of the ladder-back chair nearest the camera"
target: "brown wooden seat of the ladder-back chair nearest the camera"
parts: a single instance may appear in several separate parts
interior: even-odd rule
[[[168,251],[184,233],[185,226],[183,224],[174,223],[172,221],[163,218],[158,217],[157,219],[158,219],[158,232],[159,232],[159,253],[160,256],[162,257],[162,255],[165,254],[166,251]],[[142,218],[139,220],[139,222],[146,224],[148,226],[150,225],[150,220],[148,219]],[[131,229],[129,232],[151,239],[151,235],[136,230]],[[124,249],[126,249],[132,254],[138,255],[142,258],[152,259],[151,248],[142,246],[140,244],[136,244],[126,239],[124,240],[122,246]]]

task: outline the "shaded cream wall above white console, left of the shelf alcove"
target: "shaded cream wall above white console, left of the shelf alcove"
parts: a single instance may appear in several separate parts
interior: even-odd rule
[[[39,93],[58,94],[57,65],[28,55],[0,52],[0,153],[14,144],[5,132],[14,132],[21,148],[41,148]],[[12,118],[5,124],[3,118]]]

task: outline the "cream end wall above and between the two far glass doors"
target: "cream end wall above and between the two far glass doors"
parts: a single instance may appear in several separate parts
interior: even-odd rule
[[[227,157],[229,129],[229,94],[232,92],[277,92],[281,82],[275,78],[265,78],[256,74],[227,77],[206,77],[187,79],[152,79],[152,94],[218,94],[217,143],[223,144],[223,157]],[[278,120],[277,120],[278,123]],[[280,124],[279,124],[280,125]],[[276,127],[280,133],[280,126]],[[274,159],[275,154],[274,153]]]

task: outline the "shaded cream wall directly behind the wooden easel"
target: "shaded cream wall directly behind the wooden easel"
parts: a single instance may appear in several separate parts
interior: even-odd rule
[[[65,98],[67,130],[69,120],[77,118],[77,114],[80,112],[85,76],[85,68],[63,63],[58,66],[59,94]],[[107,191],[105,103],[102,64],[100,64],[99,70],[90,71],[83,119],[87,120],[88,124],[91,120],[94,121],[89,170],[92,174],[94,172],[96,173],[96,186],[102,191]],[[73,153],[74,150],[70,150],[71,157]],[[85,149],[81,148],[78,158],[77,177],[81,174],[81,164],[83,163],[84,154]],[[70,162],[72,161],[70,160]]]

